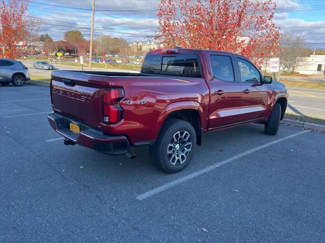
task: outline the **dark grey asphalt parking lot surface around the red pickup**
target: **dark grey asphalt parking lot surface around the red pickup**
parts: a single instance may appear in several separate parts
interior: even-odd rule
[[[325,242],[325,135],[281,125],[206,134],[167,175],[64,146],[49,89],[0,87],[1,242]]]

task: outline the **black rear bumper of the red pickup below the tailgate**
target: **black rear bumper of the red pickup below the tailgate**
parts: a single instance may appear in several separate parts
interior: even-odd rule
[[[80,134],[76,134],[69,129],[70,122],[75,123],[74,120],[57,113],[49,114],[47,118],[57,133],[81,146],[111,155],[125,154],[130,150],[125,136],[108,136],[80,123],[77,123],[80,126]]]

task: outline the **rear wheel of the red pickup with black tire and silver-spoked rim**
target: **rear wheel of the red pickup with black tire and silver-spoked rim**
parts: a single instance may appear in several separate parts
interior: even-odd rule
[[[187,121],[173,118],[165,121],[155,144],[149,147],[149,152],[158,169],[176,173],[188,166],[196,144],[193,127]]]

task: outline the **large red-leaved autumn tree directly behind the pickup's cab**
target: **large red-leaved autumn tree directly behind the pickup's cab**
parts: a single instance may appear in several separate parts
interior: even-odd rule
[[[278,49],[273,0],[161,0],[155,38],[165,48],[213,49],[256,63]]]

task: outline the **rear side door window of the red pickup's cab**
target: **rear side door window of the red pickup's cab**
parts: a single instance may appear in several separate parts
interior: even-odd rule
[[[234,68],[229,56],[211,56],[211,65],[213,76],[226,82],[234,82]]]

